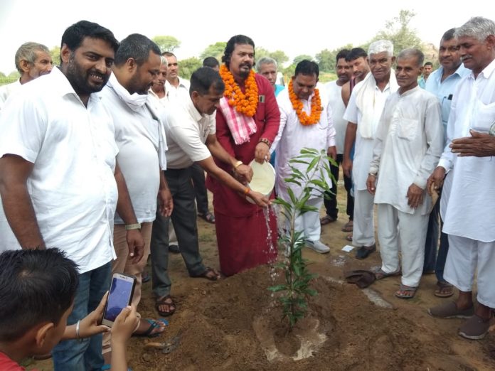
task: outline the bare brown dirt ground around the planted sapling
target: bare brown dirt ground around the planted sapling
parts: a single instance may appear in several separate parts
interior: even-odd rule
[[[465,340],[457,335],[463,320],[430,317],[427,308],[451,299],[433,295],[435,275],[422,277],[414,299],[393,295],[400,277],[376,281],[369,289],[389,304],[372,303],[357,286],[346,284],[348,269],[371,269],[380,264],[379,252],[368,259],[355,259],[343,252],[347,222],[344,189],[339,185],[339,219],[322,227],[321,240],[330,254],[305,249],[311,271],[319,276],[313,287],[319,292],[309,299],[309,316],[287,333],[280,321],[281,310],[267,291],[272,285],[270,267],[258,267],[212,282],[192,279],[180,255],[171,257],[169,271],[176,313],[166,332],[154,339],[129,341],[129,367],[144,370],[495,370],[495,334],[484,340]],[[218,268],[214,225],[198,220],[200,248],[204,262]],[[242,236],[240,236],[242,238]],[[280,277],[278,278],[280,279]],[[455,296],[454,296],[455,297]],[[156,318],[151,282],[144,284],[139,311]],[[294,334],[319,325],[326,340],[312,356],[294,361],[301,345]],[[169,354],[146,347],[150,341],[179,343]],[[278,359],[267,359],[262,345],[274,344]],[[32,363],[27,370],[52,370],[50,361]]]

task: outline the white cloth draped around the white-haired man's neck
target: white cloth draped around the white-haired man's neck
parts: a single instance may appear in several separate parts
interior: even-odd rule
[[[390,91],[398,90],[397,80],[395,79],[395,71],[390,70]],[[361,89],[356,92],[356,106],[361,111],[361,121],[358,122],[359,134],[365,139],[373,139],[373,112],[375,111],[375,89],[376,80],[370,72],[363,80]]]

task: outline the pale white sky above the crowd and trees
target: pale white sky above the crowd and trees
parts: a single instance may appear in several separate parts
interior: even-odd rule
[[[301,54],[314,56],[325,48],[365,43],[401,9],[416,14],[410,28],[435,46],[445,31],[472,16],[495,19],[486,1],[470,0],[449,9],[445,4],[440,0],[410,1],[410,6],[386,0],[0,0],[0,71],[15,70],[14,55],[22,43],[36,41],[53,48],[60,45],[65,28],[81,19],[110,28],[119,40],[130,33],[174,36],[181,41],[176,50],[179,60],[198,57],[208,45],[239,33],[267,50],[284,50],[290,60]]]

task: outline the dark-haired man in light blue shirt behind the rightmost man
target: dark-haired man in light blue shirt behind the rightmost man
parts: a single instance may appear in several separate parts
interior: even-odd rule
[[[440,68],[432,72],[426,81],[425,86],[425,89],[428,92],[437,96],[438,101],[442,106],[442,124],[445,133],[444,146],[447,144],[447,121],[449,119],[452,98],[454,97],[459,81],[462,77],[469,75],[469,70],[464,68],[464,65],[461,63],[461,55],[459,54],[459,48],[457,47],[457,38],[454,37],[454,31],[455,28],[451,28],[442,36],[440,48],[438,49]],[[449,177],[448,174],[447,176]],[[445,191],[446,190],[447,188]],[[444,194],[440,199],[443,200],[442,205],[444,205],[447,203],[449,195]],[[454,294],[454,288],[443,278],[445,259],[447,259],[447,252],[449,251],[449,240],[445,233],[440,235],[440,246],[438,247],[437,256],[440,205],[440,200],[438,200],[430,214],[430,220],[428,221],[428,231],[425,242],[425,265],[423,271],[435,271],[435,275],[437,276],[435,296],[447,298]],[[440,222],[443,224],[442,219],[440,219]]]

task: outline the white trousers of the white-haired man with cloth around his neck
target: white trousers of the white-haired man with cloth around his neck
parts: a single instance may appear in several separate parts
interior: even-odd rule
[[[373,220],[373,200],[375,196],[368,190],[354,190],[354,222],[352,244],[372,246],[375,243],[375,221]]]

